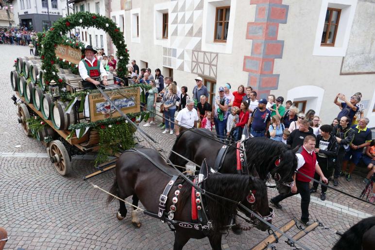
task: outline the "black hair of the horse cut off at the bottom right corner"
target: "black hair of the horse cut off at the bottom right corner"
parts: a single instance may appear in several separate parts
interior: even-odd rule
[[[342,234],[332,250],[361,250],[363,234],[375,226],[375,216],[362,219]]]

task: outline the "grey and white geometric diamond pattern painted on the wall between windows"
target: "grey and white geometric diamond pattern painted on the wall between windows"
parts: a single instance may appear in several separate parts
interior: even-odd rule
[[[191,72],[192,50],[202,48],[203,0],[170,0],[170,48],[163,66]]]

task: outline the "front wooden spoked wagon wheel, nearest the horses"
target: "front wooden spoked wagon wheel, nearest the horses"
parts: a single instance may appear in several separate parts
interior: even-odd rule
[[[71,171],[70,157],[64,144],[59,140],[54,140],[50,144],[50,158],[51,162],[56,168],[56,171],[64,176]]]

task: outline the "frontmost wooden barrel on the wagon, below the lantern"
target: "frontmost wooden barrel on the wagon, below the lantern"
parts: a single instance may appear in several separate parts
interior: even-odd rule
[[[74,124],[74,109],[70,113],[66,113],[69,101],[52,102],[51,104],[51,121],[53,127],[57,130],[67,130],[70,124]]]

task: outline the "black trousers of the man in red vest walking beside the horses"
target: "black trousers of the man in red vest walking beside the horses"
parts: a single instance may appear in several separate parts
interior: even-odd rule
[[[272,198],[273,202],[280,202],[281,200],[284,200],[290,196],[300,194],[301,195],[301,211],[302,216],[301,220],[303,222],[308,221],[308,205],[310,204],[310,186],[308,182],[301,182],[296,180],[296,186],[297,186],[297,193],[289,193],[286,195],[279,194],[278,196]]]

